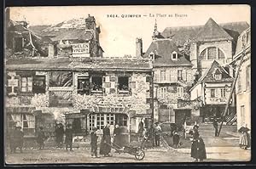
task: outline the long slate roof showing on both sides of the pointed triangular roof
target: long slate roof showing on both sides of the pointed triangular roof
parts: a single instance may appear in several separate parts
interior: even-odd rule
[[[233,37],[235,42],[241,32],[249,27],[247,22],[230,22],[218,25],[221,26],[230,37]],[[203,27],[204,25],[166,27],[161,35],[163,37],[172,36],[172,40],[176,42],[178,47],[181,47],[188,39],[195,40],[196,35]]]

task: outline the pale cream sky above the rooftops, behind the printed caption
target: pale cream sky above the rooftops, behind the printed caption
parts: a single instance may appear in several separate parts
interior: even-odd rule
[[[104,56],[121,57],[136,54],[136,38],[143,39],[143,52],[152,42],[154,23],[158,31],[166,27],[182,25],[204,25],[209,18],[217,23],[236,21],[251,22],[248,5],[159,5],[159,6],[55,6],[12,7],[10,19],[26,20],[29,25],[55,25],[64,20],[96,18],[101,26],[100,43]],[[109,17],[110,14],[118,17]],[[124,14],[122,17],[122,14]],[[141,17],[125,17],[141,14]]]

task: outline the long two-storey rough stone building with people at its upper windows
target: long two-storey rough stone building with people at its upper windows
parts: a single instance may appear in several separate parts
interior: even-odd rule
[[[87,25],[88,21],[92,25]],[[86,29],[95,28],[95,20],[85,23]],[[151,118],[149,59],[102,58],[94,52],[90,57],[75,57],[61,50],[54,57],[14,54],[5,62],[6,126],[20,125],[26,138],[35,137],[41,126],[54,135],[56,121],[72,124],[78,136],[86,135],[92,127],[102,132],[108,122],[111,133],[119,124],[126,144],[137,132],[140,119]]]

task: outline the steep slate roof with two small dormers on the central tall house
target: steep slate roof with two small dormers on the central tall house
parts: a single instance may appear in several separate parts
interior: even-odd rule
[[[177,60],[172,60],[172,52],[177,52]],[[178,50],[175,42],[172,39],[159,39],[151,42],[147,52],[143,55],[143,58],[148,58],[149,54],[154,53],[153,66],[179,66],[179,65],[191,65],[188,59],[185,59],[183,54]]]

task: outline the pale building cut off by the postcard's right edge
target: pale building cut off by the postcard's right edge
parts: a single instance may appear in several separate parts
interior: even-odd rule
[[[236,74],[238,73],[238,65],[242,54],[245,54],[245,56],[236,82],[237,129],[244,124],[251,128],[251,28],[243,31],[238,37],[236,54],[233,56],[234,60],[230,63],[235,67]]]

